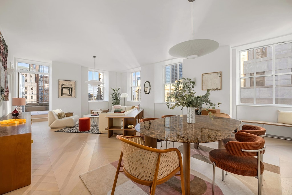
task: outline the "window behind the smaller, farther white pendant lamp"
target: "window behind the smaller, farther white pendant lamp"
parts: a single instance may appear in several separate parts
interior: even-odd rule
[[[99,80],[104,82],[104,73],[88,71],[88,80]],[[92,86],[88,84],[88,101],[104,101],[104,84]]]

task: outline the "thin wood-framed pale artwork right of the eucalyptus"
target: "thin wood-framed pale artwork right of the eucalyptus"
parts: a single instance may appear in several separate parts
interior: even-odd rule
[[[202,74],[202,90],[221,89],[221,72],[203,73]]]

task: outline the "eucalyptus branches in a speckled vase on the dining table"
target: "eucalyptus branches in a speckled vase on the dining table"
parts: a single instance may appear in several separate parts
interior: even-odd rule
[[[196,82],[189,78],[180,78],[180,80],[176,81],[173,92],[167,97],[166,105],[168,108],[173,109],[176,106],[181,106],[181,109],[184,109],[187,107],[187,123],[196,123],[196,108],[200,114],[203,109],[208,111],[208,108],[215,109],[215,106],[219,107],[221,104],[219,102],[215,104],[209,100],[210,92],[217,91],[219,90],[218,88],[208,89],[206,94],[198,96],[194,92],[195,84]],[[170,100],[174,100],[175,102],[169,102]]]

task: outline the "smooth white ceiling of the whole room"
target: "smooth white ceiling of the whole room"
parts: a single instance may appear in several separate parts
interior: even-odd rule
[[[13,57],[123,71],[172,59],[190,40],[188,0],[1,0]],[[196,0],[193,39],[239,46],[292,34],[292,0]]]

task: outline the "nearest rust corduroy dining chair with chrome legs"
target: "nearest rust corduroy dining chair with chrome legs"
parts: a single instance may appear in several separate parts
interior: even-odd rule
[[[237,141],[227,142],[225,149],[214,149],[209,152],[210,161],[213,163],[212,192],[214,194],[215,166],[217,166],[222,169],[222,181],[224,181],[224,170],[258,178],[258,194],[261,194],[264,164],[260,160],[260,152],[265,149],[265,140],[246,132],[237,132],[235,138]]]

